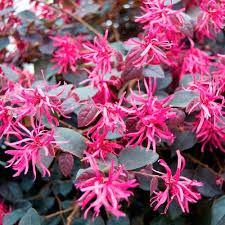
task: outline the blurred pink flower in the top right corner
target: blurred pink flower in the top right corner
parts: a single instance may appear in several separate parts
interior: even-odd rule
[[[203,0],[200,8],[203,12],[198,15],[196,27],[199,39],[203,41],[204,36],[213,39],[214,34],[219,33],[225,25],[225,4],[216,0]]]

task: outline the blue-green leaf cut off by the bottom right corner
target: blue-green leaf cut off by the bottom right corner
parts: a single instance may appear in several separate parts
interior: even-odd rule
[[[211,225],[225,224],[225,195],[216,199],[212,206]]]

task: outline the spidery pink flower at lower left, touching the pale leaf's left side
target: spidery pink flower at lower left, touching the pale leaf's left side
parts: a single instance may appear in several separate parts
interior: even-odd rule
[[[43,177],[50,172],[48,168],[41,162],[40,151],[43,151],[45,156],[54,156],[54,146],[59,143],[54,141],[54,130],[44,130],[44,126],[33,127],[30,131],[22,124],[18,123],[21,130],[9,131],[9,134],[15,135],[19,140],[15,142],[5,142],[6,145],[13,147],[15,150],[7,150],[5,153],[12,155],[13,158],[8,161],[7,167],[13,166],[17,172],[14,177],[19,176],[24,170],[27,174],[29,170],[29,162],[32,163],[34,180],[36,179],[36,164],[39,164],[43,170]]]

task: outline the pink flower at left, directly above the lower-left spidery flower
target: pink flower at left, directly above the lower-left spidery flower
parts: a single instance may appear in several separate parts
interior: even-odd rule
[[[17,108],[17,121],[29,115],[34,126],[34,117],[36,116],[41,122],[43,115],[45,115],[52,126],[54,126],[54,123],[58,126],[59,122],[52,114],[59,113],[66,117],[63,114],[62,100],[60,99],[60,95],[66,89],[66,85],[64,85],[62,90],[59,89],[59,85],[48,85],[44,81],[44,84],[40,84],[35,88],[17,86],[12,92],[13,97],[11,100],[13,104],[19,105]],[[55,91],[57,94],[50,94],[50,91]]]

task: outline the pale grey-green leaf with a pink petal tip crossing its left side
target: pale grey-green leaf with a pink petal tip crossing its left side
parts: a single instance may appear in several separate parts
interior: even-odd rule
[[[68,141],[66,144],[58,144],[63,151],[69,152],[78,158],[83,156],[83,151],[86,149],[85,139],[76,131],[69,128],[58,127],[56,128],[54,138],[56,141]]]

